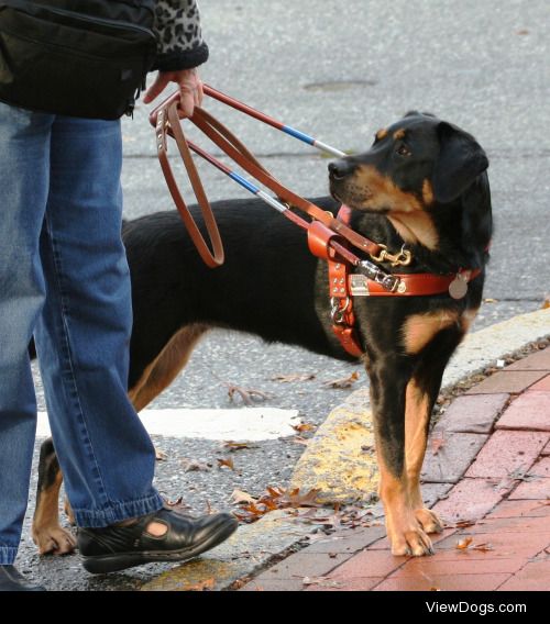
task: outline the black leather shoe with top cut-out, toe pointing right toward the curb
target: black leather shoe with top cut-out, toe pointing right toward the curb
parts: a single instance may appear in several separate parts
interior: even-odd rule
[[[165,524],[167,532],[151,535],[146,527],[152,522]],[[78,548],[88,572],[101,575],[153,561],[186,561],[221,544],[238,524],[229,513],[193,519],[162,509],[130,526],[79,528]]]

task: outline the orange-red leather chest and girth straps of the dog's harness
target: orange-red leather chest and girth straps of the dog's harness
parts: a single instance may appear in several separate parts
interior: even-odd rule
[[[351,209],[342,205],[338,219],[346,225],[351,221]],[[363,275],[352,272],[352,265],[348,261],[334,260],[326,256],[329,267],[329,289],[331,298],[332,331],[342,347],[353,357],[361,357],[364,349],[355,326],[353,313],[354,297],[421,297],[427,294],[443,294],[452,290],[451,285],[461,282],[468,285],[480,274],[480,269],[464,270],[458,274],[440,276],[435,274],[394,274],[399,278],[399,288],[389,292],[381,283]],[[465,288],[468,291],[468,288]],[[465,294],[465,292],[464,292]],[[462,294],[462,297],[464,296]],[[459,297],[460,298],[460,297]]]

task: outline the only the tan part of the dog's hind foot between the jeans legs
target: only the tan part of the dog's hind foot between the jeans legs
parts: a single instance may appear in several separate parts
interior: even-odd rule
[[[32,537],[38,547],[40,555],[67,555],[76,547],[76,539],[69,531],[59,525],[59,490],[63,483],[61,470],[55,481],[45,490],[38,492],[34,511]]]

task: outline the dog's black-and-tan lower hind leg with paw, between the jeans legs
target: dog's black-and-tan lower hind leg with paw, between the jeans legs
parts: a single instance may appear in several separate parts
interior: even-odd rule
[[[63,475],[51,437],[42,443],[38,460],[38,487],[32,536],[41,555],[66,555],[75,549],[73,534],[59,525],[59,490]]]

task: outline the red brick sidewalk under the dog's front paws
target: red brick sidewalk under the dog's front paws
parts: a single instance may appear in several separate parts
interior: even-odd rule
[[[433,557],[393,557],[382,526],[345,531],[241,591],[549,590],[550,347],[455,399],[422,480],[448,528]],[[462,548],[458,548],[458,544]]]

